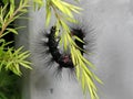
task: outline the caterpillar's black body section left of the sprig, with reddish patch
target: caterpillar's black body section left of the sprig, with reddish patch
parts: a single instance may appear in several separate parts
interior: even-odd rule
[[[52,26],[50,34],[47,34],[48,36],[47,45],[49,46],[49,52],[51,53],[53,61],[59,64],[60,68],[62,67],[73,68],[74,66],[70,55],[61,54],[58,48],[59,41],[58,42],[55,41],[55,37],[54,37],[55,31],[57,31],[55,26]]]

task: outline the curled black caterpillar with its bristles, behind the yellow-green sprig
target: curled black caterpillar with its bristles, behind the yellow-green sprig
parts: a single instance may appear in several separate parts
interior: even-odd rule
[[[71,36],[78,36],[80,40],[84,41],[85,37],[85,31],[83,28],[70,28]],[[40,37],[38,37],[38,42],[35,43],[35,56],[38,55],[39,58],[42,61],[42,65],[47,65],[47,67],[52,67],[54,63],[58,64],[58,66],[54,66],[58,72],[61,72],[62,68],[69,68],[70,70],[74,70],[74,65],[71,58],[70,53],[61,52],[59,47],[60,38],[55,37],[57,32],[55,26],[51,26],[50,32],[42,32],[40,34]],[[41,40],[41,41],[40,41]],[[80,52],[83,55],[84,54],[84,45],[85,43],[80,42],[79,40],[73,40],[75,44],[80,47]],[[38,53],[38,54],[37,54]],[[37,58],[35,58],[37,59]],[[39,61],[38,61],[39,62]],[[52,66],[51,66],[52,65]],[[58,73],[57,72],[57,73]],[[59,73],[58,73],[59,74]]]

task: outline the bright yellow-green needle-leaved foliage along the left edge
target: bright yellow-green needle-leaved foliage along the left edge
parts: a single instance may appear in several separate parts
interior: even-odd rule
[[[16,50],[13,46],[8,47],[11,42],[6,42],[2,38],[9,33],[18,34],[19,28],[10,28],[11,23],[24,14],[29,7],[29,0],[20,0],[19,6],[14,4],[14,0],[10,0],[7,4],[0,8],[0,70],[6,68],[13,72],[16,75],[21,75],[20,66],[30,68],[30,62],[25,61],[29,57],[29,52],[22,52],[22,47]],[[8,4],[10,4],[8,9]]]

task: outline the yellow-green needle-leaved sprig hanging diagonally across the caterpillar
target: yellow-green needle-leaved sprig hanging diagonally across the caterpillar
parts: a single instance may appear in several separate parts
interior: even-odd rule
[[[55,26],[59,30],[63,30],[61,33],[60,45],[63,45],[64,51],[68,51],[69,48],[71,52],[72,62],[75,66],[76,77],[82,85],[83,92],[86,94],[86,91],[89,91],[91,99],[99,99],[98,88],[94,81],[98,81],[100,84],[103,82],[94,73],[90,70],[90,67],[94,69],[95,66],[81,55],[80,48],[71,37],[71,31],[68,25],[69,22],[78,23],[74,19],[73,12],[80,13],[82,9],[64,2],[63,0],[45,0],[45,24],[49,25],[51,14],[53,12],[57,19]],[[80,42],[83,42],[79,37],[75,38]]]

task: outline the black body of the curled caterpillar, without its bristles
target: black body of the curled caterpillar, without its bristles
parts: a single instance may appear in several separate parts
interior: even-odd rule
[[[70,54],[61,54],[59,48],[58,48],[58,43],[59,41],[55,41],[54,34],[55,34],[55,26],[51,28],[50,34],[47,34],[48,42],[47,46],[49,47],[49,53],[52,55],[52,59],[59,64],[59,69],[64,68],[74,68],[71,55]],[[72,29],[71,35],[75,35],[83,41],[84,34],[82,30],[76,30]],[[83,43],[78,41],[76,38],[74,40],[75,44],[81,48],[80,52],[83,55]]]

